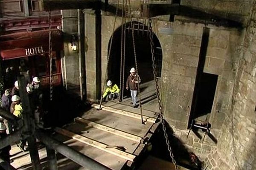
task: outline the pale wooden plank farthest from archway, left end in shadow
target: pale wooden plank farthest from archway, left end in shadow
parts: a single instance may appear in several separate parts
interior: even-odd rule
[[[108,152],[108,153],[111,153],[113,155],[119,156],[119,157],[121,157],[123,159],[127,159],[129,161],[134,161],[134,159],[136,157],[136,156],[132,155],[131,153],[126,153],[124,151],[121,151],[121,150],[118,150],[118,149],[115,149],[115,148],[108,148],[108,145],[106,145],[106,144],[103,144],[101,142],[97,142],[95,140],[92,140],[92,139],[89,139],[87,137],[78,135],[76,133],[72,133],[72,132],[70,132],[68,130],[61,129],[59,127],[55,127],[54,130],[55,130],[55,132],[60,133],[60,134],[62,134],[64,136],[68,136],[68,137],[70,137],[72,139],[75,139],[75,140],[81,142],[81,143],[88,144],[88,145],[90,145],[92,147],[96,147],[96,148],[98,148],[100,150],[103,150],[105,152]]]

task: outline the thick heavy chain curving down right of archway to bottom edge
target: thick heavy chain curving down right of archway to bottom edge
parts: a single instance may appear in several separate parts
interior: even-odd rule
[[[169,150],[169,154],[170,157],[172,159],[172,163],[175,166],[176,170],[179,170],[179,167],[177,167],[177,163],[174,159],[173,153],[172,153],[172,148],[168,139],[168,134],[166,131],[166,125],[164,122],[164,118],[163,118],[163,108],[162,108],[162,102],[160,99],[160,88],[158,86],[158,79],[157,79],[157,69],[156,69],[156,62],[155,62],[155,56],[154,56],[154,42],[153,42],[153,28],[152,28],[152,19],[151,17],[149,18],[149,37],[150,37],[150,45],[151,45],[151,59],[152,59],[152,66],[153,66],[153,74],[154,74],[154,81],[155,81],[155,85],[156,85],[156,90],[157,90],[157,99],[158,99],[158,104],[159,104],[159,111],[160,111],[160,119],[161,119],[161,124],[162,124],[162,128],[163,128],[163,134],[166,140],[166,144],[167,144],[167,148]]]

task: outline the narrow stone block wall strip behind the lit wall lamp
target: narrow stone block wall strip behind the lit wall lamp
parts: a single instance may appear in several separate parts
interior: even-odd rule
[[[77,10],[62,10],[62,31],[64,32],[64,57],[62,58],[62,72],[64,86],[68,91],[79,93],[79,53],[72,51],[72,35],[76,37],[78,45]]]

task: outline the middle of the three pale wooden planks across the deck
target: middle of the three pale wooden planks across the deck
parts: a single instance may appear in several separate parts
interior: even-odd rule
[[[140,140],[142,139],[140,136],[132,135],[130,133],[123,132],[121,130],[116,130],[112,127],[101,125],[99,123],[95,123],[95,122],[92,122],[92,121],[89,121],[89,120],[86,120],[86,119],[82,119],[80,117],[76,118],[75,120],[76,120],[76,122],[85,123],[85,124],[87,124],[91,127],[95,127],[97,129],[106,131],[108,133],[115,134],[117,136],[121,136],[123,138],[129,139],[129,140],[132,140],[132,141],[135,141],[135,142],[140,142]]]

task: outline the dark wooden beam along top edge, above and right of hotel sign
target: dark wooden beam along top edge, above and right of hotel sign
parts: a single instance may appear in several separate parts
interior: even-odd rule
[[[101,0],[41,0],[41,10],[100,8]]]

